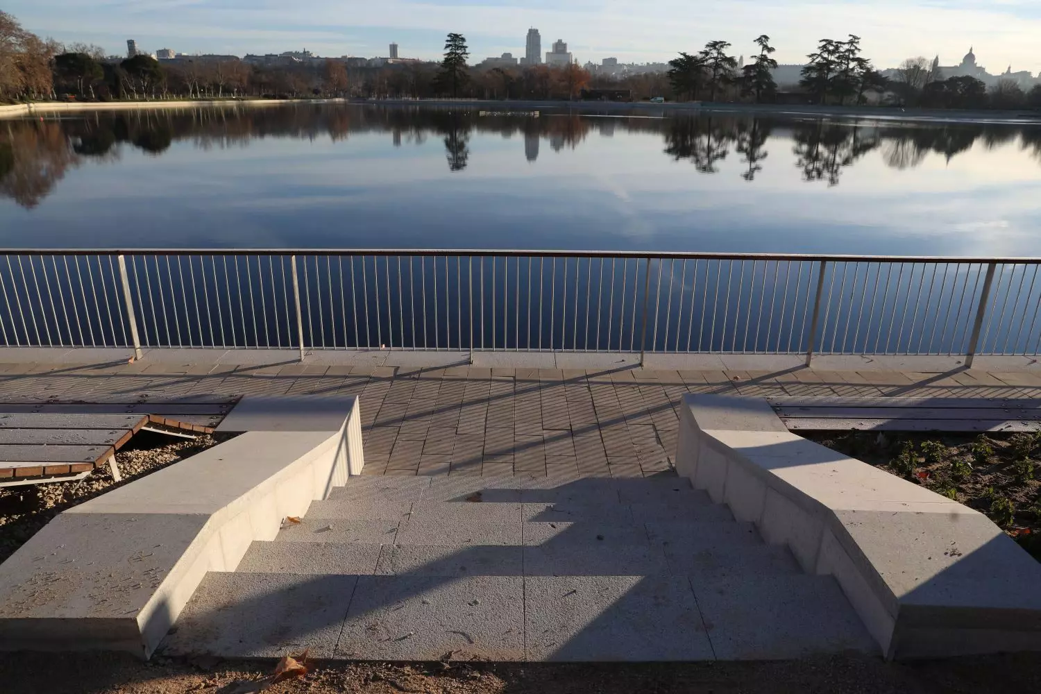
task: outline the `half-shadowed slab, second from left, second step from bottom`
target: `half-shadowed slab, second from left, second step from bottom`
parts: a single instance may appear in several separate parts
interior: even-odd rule
[[[522,575],[519,546],[383,545],[375,573],[476,576]]]

